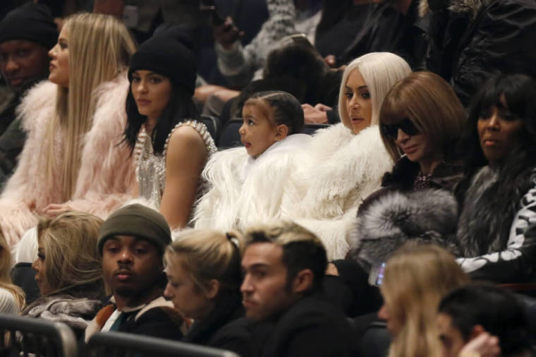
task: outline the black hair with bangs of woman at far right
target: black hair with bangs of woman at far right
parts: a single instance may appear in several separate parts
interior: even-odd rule
[[[536,164],[536,81],[528,75],[496,75],[485,83],[473,99],[469,119],[460,140],[461,156],[465,157],[465,174],[472,176],[487,159],[480,147],[477,123],[482,111],[501,107],[501,97],[514,116],[523,121],[518,145],[504,160],[504,172],[516,176],[526,167]]]

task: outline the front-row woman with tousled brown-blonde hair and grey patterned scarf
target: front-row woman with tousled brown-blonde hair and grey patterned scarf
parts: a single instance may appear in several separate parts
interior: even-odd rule
[[[37,224],[39,248],[33,262],[41,297],[22,315],[65,322],[78,337],[102,307],[105,295],[97,238],[102,219],[64,212]]]

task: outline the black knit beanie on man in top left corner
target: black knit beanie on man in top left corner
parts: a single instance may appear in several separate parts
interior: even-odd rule
[[[58,41],[58,28],[47,6],[32,2],[19,6],[0,21],[0,43],[30,40],[46,49]]]

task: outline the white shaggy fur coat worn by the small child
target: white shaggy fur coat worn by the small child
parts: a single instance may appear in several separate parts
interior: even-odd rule
[[[195,228],[229,231],[283,218],[281,202],[289,177],[298,152],[309,141],[309,135],[289,135],[257,159],[249,157],[244,147],[212,155],[202,173],[209,191],[195,207]]]

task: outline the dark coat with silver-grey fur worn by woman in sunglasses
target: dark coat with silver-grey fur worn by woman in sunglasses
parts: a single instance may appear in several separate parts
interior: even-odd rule
[[[458,162],[441,162],[432,172],[429,188],[415,190],[419,170],[417,162],[402,157],[382,178],[382,188],[359,207],[357,224],[348,233],[348,258],[366,272],[409,240],[435,243],[458,253],[451,242],[458,217],[453,190],[463,178],[463,167]]]

